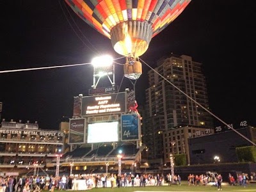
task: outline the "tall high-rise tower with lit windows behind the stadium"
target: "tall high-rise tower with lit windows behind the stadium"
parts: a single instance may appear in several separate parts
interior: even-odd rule
[[[187,125],[211,129],[213,122],[211,114],[196,104],[209,109],[202,63],[190,56],[171,54],[157,61],[157,67],[148,72],[148,83],[142,141],[148,148],[148,162],[158,166],[165,163],[164,145],[170,144],[163,140],[164,132]],[[182,148],[182,142],[179,143],[177,148]]]

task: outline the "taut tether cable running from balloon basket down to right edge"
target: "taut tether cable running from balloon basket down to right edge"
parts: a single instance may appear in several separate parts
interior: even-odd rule
[[[141,59],[140,59],[141,60]],[[143,61],[143,60],[141,60]],[[223,124],[227,125],[228,128],[232,129],[232,131],[236,132],[237,134],[239,134],[241,137],[243,137],[245,140],[249,141],[250,143],[252,143],[254,146],[256,146],[256,144],[249,140],[248,138],[246,138],[246,136],[244,136],[243,134],[241,134],[240,132],[236,131],[236,129],[234,129],[232,126],[228,125],[226,122],[224,122],[223,120],[221,120],[221,118],[219,118],[218,116],[214,115],[211,111],[209,111],[207,108],[205,108],[204,106],[202,106],[200,103],[198,103],[195,99],[193,99],[192,97],[189,97],[188,94],[186,94],[185,92],[183,92],[182,90],[180,90],[180,88],[178,88],[177,86],[175,86],[175,84],[173,84],[172,82],[168,81],[168,79],[166,79],[164,76],[162,76],[161,74],[159,74],[159,72],[157,72],[156,70],[154,70],[154,68],[150,67],[150,65],[148,65],[145,61],[143,61],[143,63],[145,63],[149,68],[151,68],[154,72],[156,72],[156,74],[158,74],[160,77],[162,77],[165,81],[167,81],[168,83],[172,84],[172,86],[174,88],[176,88],[177,90],[179,90],[179,92],[183,93],[184,95],[186,95],[186,97],[188,97],[189,99],[191,99],[193,102],[195,102],[196,104],[198,104],[198,106],[200,106],[201,108],[203,108],[205,111],[207,111],[208,113],[210,113],[212,116],[214,116],[216,119],[218,119],[220,122],[222,122]]]

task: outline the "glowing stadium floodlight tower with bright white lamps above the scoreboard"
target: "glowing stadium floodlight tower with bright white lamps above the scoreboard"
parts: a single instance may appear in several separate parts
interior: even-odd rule
[[[93,85],[92,88],[96,88],[100,78],[107,76],[111,85],[115,86],[115,67],[113,65],[113,58],[111,56],[99,56],[93,58]]]

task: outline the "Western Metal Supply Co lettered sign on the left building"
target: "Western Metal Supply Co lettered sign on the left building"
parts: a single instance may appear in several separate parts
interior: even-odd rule
[[[65,136],[64,132],[54,132],[54,131],[28,131],[28,130],[10,130],[10,129],[0,129],[0,134],[25,134],[31,136]]]

